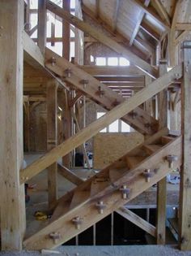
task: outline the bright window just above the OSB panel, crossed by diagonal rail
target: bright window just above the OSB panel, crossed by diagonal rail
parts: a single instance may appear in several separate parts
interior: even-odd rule
[[[105,115],[103,111],[97,111],[97,119]],[[117,119],[112,124],[109,124],[108,127],[102,129],[100,132],[130,132],[132,129],[129,124],[126,124],[121,119]]]

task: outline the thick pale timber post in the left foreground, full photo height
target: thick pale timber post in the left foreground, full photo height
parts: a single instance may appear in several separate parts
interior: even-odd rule
[[[25,231],[23,165],[23,0],[0,1],[0,187],[2,250],[22,249]]]

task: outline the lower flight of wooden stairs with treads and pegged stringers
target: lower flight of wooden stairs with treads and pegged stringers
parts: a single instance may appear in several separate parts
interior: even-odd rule
[[[175,161],[169,163],[168,155]],[[44,228],[23,241],[26,249],[53,249],[91,227],[181,164],[181,137],[163,129],[99,174],[60,198]]]

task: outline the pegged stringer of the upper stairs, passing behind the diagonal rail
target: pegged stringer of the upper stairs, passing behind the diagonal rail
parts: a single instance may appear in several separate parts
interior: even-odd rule
[[[51,50],[46,49],[45,55],[46,67],[49,67],[49,69],[58,76],[63,76],[63,71],[70,68],[71,76],[66,77],[65,80],[71,85],[74,85],[93,101],[103,106],[106,110],[111,110],[113,106],[125,101],[125,98],[122,98],[121,95],[115,93],[112,89],[109,89],[107,86],[100,83],[100,81],[96,80],[86,72],[83,72],[74,64],[69,63],[66,59],[61,58]],[[50,61],[52,58],[56,60],[56,64],[54,66]],[[84,80],[87,81],[87,85],[83,85]],[[100,90],[104,92],[103,95],[100,95]],[[151,134],[155,132],[157,129],[157,121],[140,107],[136,108],[135,112],[137,113],[135,119],[132,115],[125,115],[123,120],[138,130],[138,132],[142,132],[144,134]],[[147,124],[151,124],[151,127],[147,127]]]

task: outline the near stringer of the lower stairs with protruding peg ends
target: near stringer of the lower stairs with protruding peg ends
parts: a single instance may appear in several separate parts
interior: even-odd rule
[[[168,162],[165,160],[168,154],[176,154],[179,156],[178,161],[174,163],[174,168],[180,167],[181,137],[177,137],[167,145],[164,145],[161,150],[158,150],[155,154],[151,154],[151,156],[142,161],[142,163],[134,169],[127,170],[116,182],[111,183],[99,193],[91,196],[89,200],[69,210],[65,215],[58,217],[52,223],[50,222],[45,228],[36,232],[36,234],[26,238],[23,241],[23,246],[26,249],[53,249],[91,227],[91,225],[100,221],[100,219],[103,219],[105,216],[112,213],[112,211],[117,210],[134,197],[137,197],[138,194],[150,188],[152,184],[163,179],[168,172],[172,171]],[[151,178],[150,182],[146,182],[145,177],[142,175],[143,171],[147,168],[155,170],[154,176]],[[102,172],[100,173],[100,177],[101,176],[104,176]],[[86,183],[89,185],[90,180],[79,185],[79,188],[83,189]],[[122,184],[125,184],[130,189],[129,197],[126,199],[121,197],[121,191],[119,190]],[[100,200],[106,205],[103,214],[99,214],[96,209],[96,203]],[[72,223],[72,219],[77,216],[83,219],[80,229],[76,229],[74,223]],[[53,239],[49,237],[49,234],[53,232],[59,234],[59,239],[56,241],[53,241]]]

